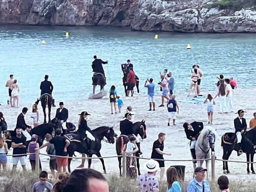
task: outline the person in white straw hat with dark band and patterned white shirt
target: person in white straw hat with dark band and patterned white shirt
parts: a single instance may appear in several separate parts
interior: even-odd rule
[[[139,176],[139,185],[141,192],[158,192],[159,183],[156,173],[159,169],[159,163],[156,160],[148,160],[144,164],[144,169],[147,171],[145,174]]]

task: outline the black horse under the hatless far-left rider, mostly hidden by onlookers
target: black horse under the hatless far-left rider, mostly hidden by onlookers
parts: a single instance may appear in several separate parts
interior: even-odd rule
[[[43,140],[47,133],[54,136],[55,130],[61,127],[62,127],[61,122],[56,118],[54,118],[50,123],[41,124],[39,126],[36,126],[35,128],[32,128],[30,131],[30,134],[31,135],[36,134],[38,136],[37,143],[39,144],[39,146],[41,146],[43,144]],[[8,149],[11,148],[11,137],[15,135],[16,135],[16,128],[14,130],[6,130],[5,141],[7,143]],[[29,145],[29,143],[30,141],[27,142],[27,146]]]

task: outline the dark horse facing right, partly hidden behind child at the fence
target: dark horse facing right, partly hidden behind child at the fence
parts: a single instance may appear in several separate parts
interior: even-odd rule
[[[133,124],[133,134],[135,136],[140,136],[142,139],[146,139],[147,135],[146,135],[146,125],[145,125],[145,121],[142,120],[141,122],[135,122]],[[120,156],[123,150],[123,147],[125,144],[127,144],[129,141],[129,138],[127,135],[120,135],[117,139],[116,139],[116,152],[117,155]],[[139,157],[141,152],[140,152],[140,143],[136,143],[138,146],[138,151],[135,153],[136,157]],[[122,176],[122,164],[121,164],[121,160],[122,157],[118,157],[118,162],[119,162],[119,169],[120,169],[120,176]],[[138,168],[138,174],[140,175],[140,170],[139,170],[139,159],[136,159],[137,161],[137,168]]]

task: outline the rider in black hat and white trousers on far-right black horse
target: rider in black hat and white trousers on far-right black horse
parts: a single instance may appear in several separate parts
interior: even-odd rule
[[[242,140],[242,134],[244,134],[247,129],[246,119],[243,118],[244,113],[246,113],[246,111],[242,109],[238,110],[236,113],[238,114],[238,117],[234,119],[235,133],[237,135],[237,145],[239,148],[239,151],[237,152],[237,156],[240,156],[243,153],[241,140]]]

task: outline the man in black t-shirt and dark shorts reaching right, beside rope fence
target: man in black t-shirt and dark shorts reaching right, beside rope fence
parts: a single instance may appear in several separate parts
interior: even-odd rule
[[[165,133],[160,132],[158,134],[158,140],[154,141],[153,148],[152,148],[152,154],[151,159],[159,159],[157,160],[160,166],[160,181],[163,178],[164,174],[164,160],[163,155],[170,156],[171,153],[163,152],[163,141],[165,140]]]

